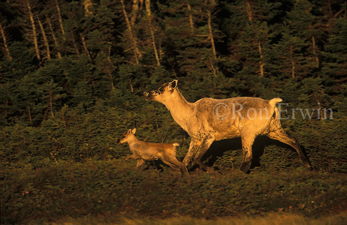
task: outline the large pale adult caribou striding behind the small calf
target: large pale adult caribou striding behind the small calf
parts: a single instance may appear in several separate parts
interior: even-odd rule
[[[281,98],[265,100],[257,97],[234,97],[226,99],[201,98],[194,103],[187,102],[177,88],[178,81],[166,83],[157,90],[143,93],[146,100],[163,103],[174,121],[191,137],[188,153],[183,159],[187,166],[194,162],[209,170],[201,163],[213,141],[241,136],[243,160],[241,171],[247,172],[252,159],[252,145],[257,135],[267,135],[282,141],[301,157],[306,168],[311,165],[302,152],[299,142],[289,137],[282,129],[276,107]]]

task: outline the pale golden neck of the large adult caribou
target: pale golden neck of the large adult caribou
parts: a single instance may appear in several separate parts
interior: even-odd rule
[[[193,112],[192,103],[187,102],[181,92],[176,88],[173,90],[171,100],[163,102],[163,104],[170,110],[174,121],[176,121],[183,130],[187,131],[187,124]]]

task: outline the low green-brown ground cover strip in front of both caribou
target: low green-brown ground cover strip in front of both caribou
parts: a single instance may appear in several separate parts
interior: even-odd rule
[[[1,221],[6,224],[46,215],[76,217],[100,212],[215,218],[280,209],[317,216],[336,210],[335,202],[346,207],[344,176],[305,170],[231,175],[194,172],[191,182],[186,182],[180,173],[138,172],[120,160],[61,161],[3,177],[1,198],[6,201],[1,201]]]

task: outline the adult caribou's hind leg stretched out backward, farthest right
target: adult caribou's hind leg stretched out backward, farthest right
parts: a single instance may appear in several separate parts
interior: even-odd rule
[[[288,144],[291,147],[293,147],[296,150],[297,154],[299,154],[299,156],[300,156],[301,160],[303,161],[305,167],[307,169],[312,169],[312,166],[311,166],[310,162],[308,161],[308,159],[306,158],[305,154],[301,150],[299,141],[296,138],[288,136],[287,133],[282,128],[280,128],[280,129],[278,129],[276,131],[270,132],[269,134],[267,134],[267,136],[269,136],[272,139],[279,140],[279,141],[281,141],[281,142],[283,142],[285,144]]]

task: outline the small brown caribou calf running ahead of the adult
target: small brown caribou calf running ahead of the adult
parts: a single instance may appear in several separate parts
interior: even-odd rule
[[[132,155],[129,155],[125,158],[125,161],[128,159],[137,159],[136,168],[141,167],[145,161],[153,161],[161,159],[165,164],[169,165],[175,170],[181,169],[183,172],[188,173],[187,168],[183,163],[179,162],[176,159],[176,146],[179,146],[178,143],[150,143],[142,140],[138,140],[135,137],[136,128],[124,132],[121,137],[118,139],[118,143],[127,142],[132,152]]]

